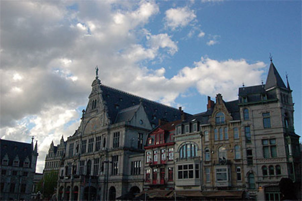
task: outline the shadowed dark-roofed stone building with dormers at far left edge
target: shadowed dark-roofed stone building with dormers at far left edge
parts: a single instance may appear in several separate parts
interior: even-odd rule
[[[1,200],[30,200],[37,164],[37,142],[0,139]]]

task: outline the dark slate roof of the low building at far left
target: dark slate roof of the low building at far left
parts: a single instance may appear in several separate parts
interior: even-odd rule
[[[3,157],[7,154],[9,159],[8,166],[12,166],[13,160],[17,155],[20,161],[19,167],[23,166],[23,162],[26,159],[26,157],[28,157],[29,161],[31,161],[33,147],[32,144],[30,143],[0,139],[0,147],[1,147],[1,161]]]

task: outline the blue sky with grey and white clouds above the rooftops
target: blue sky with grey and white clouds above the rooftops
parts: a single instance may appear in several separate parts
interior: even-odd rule
[[[207,96],[265,83],[270,53],[293,90],[301,136],[301,1],[0,2],[0,137],[50,143],[80,125],[95,67],[102,84],[190,114]]]

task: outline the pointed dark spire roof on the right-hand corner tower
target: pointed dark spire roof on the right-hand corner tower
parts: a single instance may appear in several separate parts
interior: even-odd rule
[[[276,67],[274,66],[272,60],[271,65],[269,66],[268,76],[266,78],[265,90],[270,89],[272,87],[283,87],[286,88],[282,78],[280,77]]]

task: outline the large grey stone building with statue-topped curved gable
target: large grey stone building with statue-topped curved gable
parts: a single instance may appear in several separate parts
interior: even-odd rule
[[[142,191],[147,133],[158,119],[177,120],[181,113],[107,87],[96,77],[81,124],[66,141],[58,199],[114,200]]]

